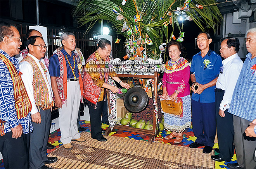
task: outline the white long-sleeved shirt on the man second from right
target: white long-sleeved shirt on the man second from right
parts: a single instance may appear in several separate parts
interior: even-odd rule
[[[225,90],[223,99],[220,103],[220,109],[225,111],[230,107],[235,84],[241,72],[243,61],[235,53],[222,61],[223,73],[220,73],[216,82],[216,88]],[[227,106],[224,106],[226,105]]]

